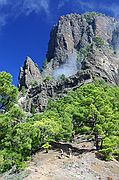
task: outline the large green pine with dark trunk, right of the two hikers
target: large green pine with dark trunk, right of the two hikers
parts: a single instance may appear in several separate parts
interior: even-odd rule
[[[78,91],[82,92],[83,98],[79,104],[79,111],[74,114],[75,126],[78,126],[80,133],[94,135],[97,150],[105,148],[105,138],[111,139],[112,136],[117,136],[119,118],[112,99],[118,102],[119,99],[117,100],[114,93],[112,94],[113,88],[103,85],[101,87],[101,85],[88,84]],[[113,145],[113,148],[116,147],[117,143]]]

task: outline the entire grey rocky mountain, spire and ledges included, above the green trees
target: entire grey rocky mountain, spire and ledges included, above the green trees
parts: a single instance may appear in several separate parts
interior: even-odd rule
[[[20,73],[19,87],[27,88],[25,109],[43,111],[49,98],[62,97],[95,77],[119,85],[118,52],[119,22],[114,18],[96,13],[60,17],[51,31],[42,71],[25,63]],[[38,85],[29,88],[34,80]]]

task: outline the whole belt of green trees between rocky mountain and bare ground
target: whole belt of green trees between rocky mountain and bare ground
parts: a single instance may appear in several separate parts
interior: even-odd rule
[[[14,104],[17,89],[11,85],[11,76],[7,73],[0,76],[1,96],[5,95],[1,101],[5,113],[0,113],[1,173],[13,166],[17,170],[25,168],[24,162],[32,153],[41,147],[47,151],[52,141],[69,141],[74,133],[93,138],[104,159],[118,156],[119,87],[111,87],[103,81],[83,85],[57,101],[50,100],[42,114],[35,113],[27,118]],[[14,99],[8,101],[8,96]]]

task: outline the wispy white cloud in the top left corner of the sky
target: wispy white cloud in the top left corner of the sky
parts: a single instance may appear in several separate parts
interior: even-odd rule
[[[0,29],[9,18],[17,18],[21,14],[29,15],[32,12],[44,12],[48,17],[50,0],[0,0]],[[9,6],[10,10],[7,10]]]

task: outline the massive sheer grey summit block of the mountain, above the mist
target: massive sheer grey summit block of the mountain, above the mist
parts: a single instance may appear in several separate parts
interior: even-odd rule
[[[61,16],[50,34],[47,51],[47,75],[66,61],[67,55],[90,45],[96,36],[117,48],[119,22],[103,14],[85,13]],[[47,67],[52,67],[50,70]]]

